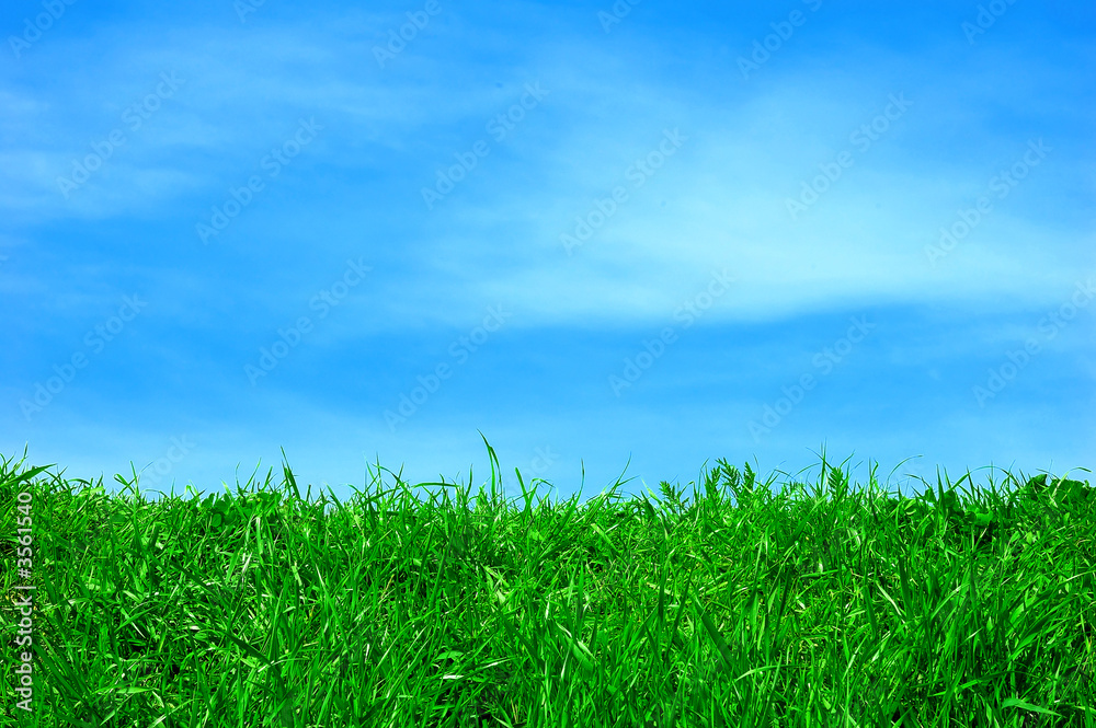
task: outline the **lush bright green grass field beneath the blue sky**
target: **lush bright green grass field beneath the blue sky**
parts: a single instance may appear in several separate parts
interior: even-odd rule
[[[488,453],[475,498],[471,473],[419,498],[378,464],[347,502],[287,464],[281,488],[147,501],[4,461],[3,591],[37,591],[34,713],[3,610],[0,723],[1096,726],[1087,481],[906,498],[823,455],[776,492],[720,460],[690,498],[552,504],[520,474],[507,501]]]

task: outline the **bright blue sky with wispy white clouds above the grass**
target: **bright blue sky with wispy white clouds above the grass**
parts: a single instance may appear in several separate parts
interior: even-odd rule
[[[339,497],[478,487],[478,430],[511,495],[1094,464],[1092,9],[5,8],[7,457],[178,494],[284,448]]]

